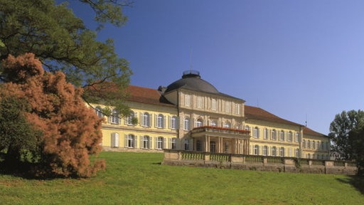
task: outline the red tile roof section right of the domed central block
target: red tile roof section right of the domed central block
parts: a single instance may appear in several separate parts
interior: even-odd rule
[[[277,115],[273,115],[272,113],[267,112],[266,110],[263,110],[262,108],[252,107],[249,105],[245,105],[245,117],[247,117],[247,120],[249,120],[249,119],[264,120],[264,121],[269,121],[269,122],[282,123],[285,125],[304,126],[304,125],[300,125],[296,122],[284,120],[283,118],[278,117]]]

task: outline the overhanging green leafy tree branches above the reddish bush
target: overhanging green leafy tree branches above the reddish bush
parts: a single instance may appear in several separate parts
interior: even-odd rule
[[[79,1],[95,11],[99,28],[108,22],[124,24],[127,17],[122,7],[131,5],[118,0]],[[73,85],[93,88],[92,94],[82,94],[86,102],[114,105],[127,115],[129,109],[123,102],[132,75],[129,63],[114,53],[112,39],[97,41],[97,33],[87,29],[67,5],[67,1],[55,4],[54,0],[0,0],[0,41],[4,43],[4,47],[0,46],[0,60],[9,54],[34,53],[51,73],[62,71]],[[0,80],[6,82],[2,75]],[[117,88],[113,92],[103,89],[109,82]]]

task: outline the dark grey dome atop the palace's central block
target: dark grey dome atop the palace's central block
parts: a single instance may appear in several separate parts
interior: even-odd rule
[[[164,93],[171,92],[178,88],[186,88],[188,90],[204,93],[220,93],[213,85],[205,80],[202,80],[200,73],[196,70],[188,70],[183,72],[182,78],[168,85]]]

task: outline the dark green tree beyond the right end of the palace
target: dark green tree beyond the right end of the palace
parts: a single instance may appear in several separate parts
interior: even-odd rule
[[[358,174],[364,174],[364,111],[343,111],[335,116],[328,137],[333,142],[333,151],[342,159],[355,160]]]

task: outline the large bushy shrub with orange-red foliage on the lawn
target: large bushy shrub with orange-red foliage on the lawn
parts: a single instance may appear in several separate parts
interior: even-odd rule
[[[81,98],[82,88],[67,83],[60,71],[55,74],[45,72],[33,53],[17,58],[9,56],[3,61],[2,68],[4,79],[9,83],[1,85],[1,102],[8,102],[4,99],[10,97],[16,98],[15,102],[25,99],[28,107],[22,108],[23,104],[15,103],[14,106],[20,106],[18,110],[21,111],[4,110],[6,113],[2,116],[8,117],[6,120],[9,120],[7,110],[14,112],[11,115],[17,114],[14,126],[23,129],[13,130],[16,136],[11,136],[12,132],[5,132],[1,137],[6,141],[26,139],[33,136],[28,136],[27,129],[41,131],[37,149],[32,149],[38,150],[34,156],[43,165],[38,167],[39,174],[50,172],[65,177],[90,177],[105,167],[105,162],[92,164],[89,159],[90,154],[97,154],[101,150],[102,119],[90,107],[86,107]],[[1,106],[9,107],[9,102]],[[26,117],[26,122],[23,122],[22,116]],[[24,146],[15,150],[28,148],[28,140],[23,141],[19,144]]]

